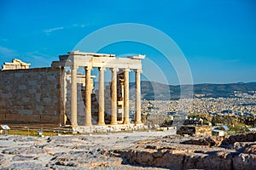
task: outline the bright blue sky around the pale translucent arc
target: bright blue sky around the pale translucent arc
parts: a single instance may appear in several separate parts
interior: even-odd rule
[[[195,83],[256,82],[253,0],[1,0],[0,21],[0,64],[18,58],[32,67],[49,66],[93,31],[139,23],[172,37],[188,60]],[[179,83],[172,65],[165,65],[154,48],[123,42],[100,52],[146,54],[169,83]],[[154,81],[161,82],[157,76]]]

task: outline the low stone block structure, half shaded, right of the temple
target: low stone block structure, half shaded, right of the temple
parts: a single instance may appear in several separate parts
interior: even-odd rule
[[[190,136],[212,136],[212,126],[183,125],[177,130],[177,134]]]

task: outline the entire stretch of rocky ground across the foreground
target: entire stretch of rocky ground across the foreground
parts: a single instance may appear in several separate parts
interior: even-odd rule
[[[256,133],[176,137],[174,132],[0,136],[2,169],[256,169]]]

